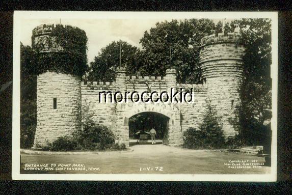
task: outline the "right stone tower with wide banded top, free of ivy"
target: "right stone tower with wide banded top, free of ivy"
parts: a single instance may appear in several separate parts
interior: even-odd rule
[[[237,33],[219,33],[201,40],[200,66],[206,79],[207,100],[217,110],[225,137],[237,134],[237,107],[241,106],[240,89],[243,76],[244,46]],[[235,125],[235,126],[234,126]]]

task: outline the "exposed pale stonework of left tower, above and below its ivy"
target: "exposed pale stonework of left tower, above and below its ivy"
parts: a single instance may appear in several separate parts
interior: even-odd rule
[[[74,29],[74,27],[70,28]],[[32,48],[44,57],[67,53],[56,42],[54,24],[42,24],[33,30]],[[70,41],[70,40],[68,40]],[[50,66],[50,65],[49,65]],[[68,68],[70,68],[68,66]],[[37,77],[37,128],[34,148],[45,146],[60,136],[72,135],[81,128],[81,78],[76,75],[45,71]]]

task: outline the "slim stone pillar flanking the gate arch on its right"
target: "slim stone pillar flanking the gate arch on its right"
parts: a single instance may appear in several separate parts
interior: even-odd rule
[[[171,89],[174,89],[174,92],[176,92],[176,70],[167,69],[165,79],[167,81],[167,92],[171,94]],[[179,103],[172,102],[169,106],[171,107],[172,114],[168,122],[168,145],[180,146],[183,140],[180,126]]]

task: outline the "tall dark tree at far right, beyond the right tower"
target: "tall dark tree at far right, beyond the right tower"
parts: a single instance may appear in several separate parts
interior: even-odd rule
[[[225,30],[233,32],[235,28],[240,30],[246,47],[240,90],[242,106],[238,108],[240,134],[237,138],[249,145],[263,144],[270,133],[268,131],[271,130],[264,126],[263,122],[272,117],[271,19],[234,20]]]

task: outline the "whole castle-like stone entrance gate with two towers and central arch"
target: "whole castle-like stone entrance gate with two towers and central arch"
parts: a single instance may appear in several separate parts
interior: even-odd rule
[[[35,29],[33,45],[40,46],[36,37],[47,36],[50,33],[47,26],[40,25]],[[44,27],[45,33],[42,31]],[[242,80],[244,54],[244,47],[239,40],[240,36],[236,33],[228,33],[228,36],[210,35],[201,40],[200,67],[205,82],[199,85],[177,83],[175,69],[167,69],[164,77],[154,77],[126,76],[124,68],[119,68],[116,70],[115,82],[81,81],[77,76],[56,72],[38,75],[37,129],[34,147],[46,145],[47,142],[80,129],[78,112],[82,104],[88,104],[92,109],[96,123],[108,126],[115,133],[116,143],[124,143],[126,146],[129,146],[128,120],[143,112],[155,112],[168,117],[168,134],[164,138],[164,143],[171,146],[181,145],[182,132],[189,127],[198,128],[202,122],[207,101],[217,109],[224,135],[234,136],[237,133],[234,124],[238,121],[236,108],[241,105],[238,90]],[[42,43],[41,46],[44,47],[44,52],[50,52],[46,43]],[[169,92],[171,88],[184,91],[192,88],[194,102],[119,104],[104,101],[99,103],[98,99],[99,92],[102,91],[141,93],[155,90],[160,93]]]

